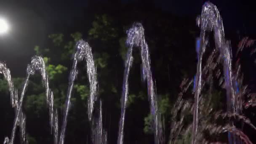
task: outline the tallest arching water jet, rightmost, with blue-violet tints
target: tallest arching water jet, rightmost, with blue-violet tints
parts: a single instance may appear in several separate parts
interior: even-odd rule
[[[201,28],[200,49],[198,51],[197,74],[195,81],[195,107],[193,117],[192,144],[196,144],[197,125],[198,125],[198,100],[202,87],[202,58],[205,47],[208,43],[206,32],[214,32],[216,48],[219,48],[221,56],[224,58],[223,69],[225,77],[225,89],[227,91],[227,111],[236,112],[235,92],[232,82],[231,52],[229,43],[224,36],[224,27],[219,10],[210,2],[205,2],[202,8],[201,16],[197,19],[197,24]],[[230,139],[229,139],[230,141]]]

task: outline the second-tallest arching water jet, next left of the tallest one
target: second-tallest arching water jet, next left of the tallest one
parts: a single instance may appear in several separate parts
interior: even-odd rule
[[[163,143],[163,130],[160,113],[158,112],[157,107],[157,97],[155,94],[155,85],[152,79],[152,72],[150,67],[150,57],[149,57],[149,48],[144,37],[144,28],[140,23],[134,23],[127,31],[127,40],[126,45],[128,46],[128,51],[126,54],[125,60],[125,72],[123,80],[123,92],[121,97],[121,118],[119,123],[119,133],[117,144],[123,144],[124,136],[124,120],[125,120],[125,109],[127,106],[128,99],[128,75],[132,65],[132,49],[133,47],[141,48],[141,61],[142,61],[142,74],[143,80],[147,80],[147,91],[150,103],[150,113],[153,116],[153,128],[155,135],[155,144]]]

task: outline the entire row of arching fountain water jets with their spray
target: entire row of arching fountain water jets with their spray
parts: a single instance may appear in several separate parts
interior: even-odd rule
[[[243,109],[247,109],[250,106],[256,106],[255,95],[245,94],[248,93],[248,88],[243,86],[243,76],[241,74],[241,68],[239,62],[236,63],[235,71],[232,71],[232,51],[230,42],[225,40],[224,27],[220,13],[215,5],[206,2],[203,5],[201,15],[197,18],[197,25],[200,27],[200,37],[196,40],[196,52],[197,52],[197,72],[192,80],[184,79],[180,85],[181,92],[179,97],[171,109],[172,120],[174,120],[178,113],[181,112],[179,120],[174,120],[171,124],[170,143],[176,143],[177,137],[180,133],[187,135],[190,131],[192,132],[192,144],[197,144],[198,141],[208,143],[203,137],[202,131],[207,130],[210,134],[228,133],[229,144],[242,143],[252,144],[248,136],[243,133],[242,130],[237,128],[233,123],[233,119],[238,119],[245,123],[251,128],[256,130],[256,127],[243,116]],[[205,66],[203,66],[203,54],[205,53],[206,46],[208,45],[207,32],[213,31],[216,49],[213,49],[210,56],[208,57]],[[248,38],[243,39],[242,43],[239,44],[237,53],[243,50],[246,46],[250,46],[253,41]],[[161,120],[161,115],[158,110],[158,97],[156,94],[155,82],[153,80],[150,64],[149,47],[144,37],[144,28],[140,23],[134,23],[133,26],[127,31],[126,45],[128,51],[126,53],[125,70],[123,75],[123,91],[121,94],[121,117],[118,130],[117,144],[124,143],[124,125],[125,125],[125,111],[128,101],[128,77],[130,69],[133,63],[133,48],[138,47],[141,50],[141,61],[142,61],[142,79],[147,83],[147,94],[149,101],[150,114],[153,117],[152,127],[154,129],[155,144],[164,144],[164,132]],[[48,74],[45,70],[45,63],[41,56],[32,57],[31,63],[27,66],[27,75],[24,81],[24,85],[21,90],[21,95],[18,96],[18,90],[14,88],[13,81],[11,79],[11,72],[5,63],[0,62],[0,74],[3,74],[5,80],[8,83],[10,91],[11,105],[15,109],[15,119],[13,123],[13,129],[10,139],[5,138],[4,144],[13,144],[15,139],[16,129],[20,128],[21,143],[28,143],[26,139],[26,116],[22,111],[23,100],[29,84],[29,78],[40,72],[42,83],[45,88],[45,95],[47,101],[47,107],[50,117],[51,131],[53,131],[54,144],[64,144],[65,131],[67,128],[67,118],[71,105],[72,90],[74,87],[75,80],[77,78],[77,64],[80,61],[86,61],[87,76],[90,83],[90,95],[88,97],[88,120],[91,123],[91,141],[93,144],[107,144],[107,131],[103,128],[102,122],[102,101],[98,96],[98,81],[96,75],[96,66],[94,64],[92,48],[84,40],[79,40],[75,45],[75,53],[73,57],[73,64],[69,74],[69,83],[67,90],[67,98],[65,101],[64,117],[62,120],[61,129],[59,131],[59,120],[57,109],[53,106],[53,91],[49,88]],[[255,51],[252,51],[254,53]],[[219,64],[223,66],[224,76],[221,77],[221,70],[217,67]],[[204,79],[205,78],[205,79]],[[213,99],[212,95],[209,95],[210,100],[206,100],[205,97],[201,96],[202,89],[205,85],[210,85],[209,93],[213,85],[213,79],[219,80],[219,85],[226,90],[227,99],[227,112],[216,112],[214,114],[215,119],[218,117],[228,118],[226,125],[216,124],[200,124],[199,117],[202,115],[202,111],[205,112],[206,116],[209,116],[212,112],[210,101]],[[194,104],[183,99],[184,93],[187,92],[190,85],[193,85],[194,92]],[[249,98],[247,101],[246,98]],[[192,124],[184,124],[185,112],[189,111],[193,115]],[[184,131],[183,131],[184,129]],[[59,134],[60,132],[60,134]]]

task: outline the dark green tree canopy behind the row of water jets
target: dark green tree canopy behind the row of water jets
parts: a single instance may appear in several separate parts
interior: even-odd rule
[[[90,1],[91,5],[94,5]],[[136,2],[132,3],[136,5]],[[96,4],[95,4],[96,5]],[[143,24],[145,39],[149,45],[152,74],[156,81],[159,112],[163,117],[165,141],[171,141],[169,136],[174,121],[179,121],[181,114],[172,113],[176,109],[175,102],[181,92],[180,84],[184,78],[194,77],[196,72],[195,38],[197,29],[194,19],[182,18],[165,13],[157,8],[136,5],[129,9],[129,5],[120,4],[122,11],[114,13],[116,5],[105,5],[109,11],[102,12],[101,6],[95,9],[91,16],[93,19],[86,32],[63,32],[48,36],[51,43],[37,45],[35,55],[43,56],[46,70],[50,79],[50,87],[54,93],[54,104],[59,111],[61,119],[64,101],[66,99],[68,75],[72,64],[72,56],[77,40],[84,39],[92,47],[93,57],[97,68],[99,80],[99,96],[103,100],[103,125],[107,129],[108,143],[117,141],[118,123],[120,118],[120,97],[122,93],[124,61],[127,52],[125,46],[126,30],[135,21]],[[152,9],[150,9],[152,8]],[[150,11],[149,11],[150,9]],[[106,10],[104,8],[104,10]],[[84,30],[84,29],[83,29]],[[129,76],[128,108],[125,115],[125,144],[151,144],[152,116],[149,114],[146,84],[141,81],[141,59],[139,48],[133,51],[134,63]],[[3,119],[0,122],[0,140],[10,134],[14,117],[14,110],[9,104],[7,82],[0,76],[0,113]],[[21,88],[24,77],[13,78],[16,88]],[[85,63],[78,64],[78,76],[75,81],[75,91],[72,93],[72,106],[68,117],[66,143],[80,144],[90,141],[90,123],[87,117],[87,100],[89,83],[86,77]],[[190,88],[192,89],[192,88]],[[208,91],[204,91],[206,101],[211,101],[212,109],[218,111],[224,107],[222,99],[223,90],[214,89],[211,97],[207,99]],[[185,99],[191,102],[191,94],[184,94]],[[190,99],[189,99],[190,98]],[[205,106],[206,107],[206,106]],[[204,108],[205,108],[204,107]],[[35,75],[29,81],[26,93],[24,111],[27,115],[27,133],[29,143],[52,143],[51,128],[48,122],[45,92],[40,76]],[[189,109],[184,109],[185,124],[192,121]],[[212,115],[205,112],[205,115]],[[174,117],[177,116],[177,117]],[[203,118],[202,118],[203,119]],[[205,120],[208,123],[211,120]],[[184,126],[185,127],[185,126]],[[174,130],[173,130],[174,131]],[[177,136],[177,144],[189,144],[191,133]],[[205,136],[207,137],[207,136]],[[215,140],[215,139],[214,139]],[[18,141],[18,140],[17,140]]]

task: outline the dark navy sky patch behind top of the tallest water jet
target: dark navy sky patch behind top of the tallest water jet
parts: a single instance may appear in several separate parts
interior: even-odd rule
[[[195,16],[200,14],[206,0],[159,0],[157,3],[165,10],[179,16]],[[219,9],[224,28],[240,30],[248,35],[255,31],[256,9],[253,0],[209,0]],[[253,32],[252,32],[253,31]]]

